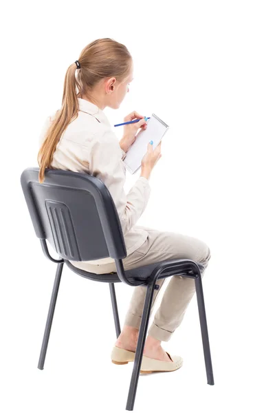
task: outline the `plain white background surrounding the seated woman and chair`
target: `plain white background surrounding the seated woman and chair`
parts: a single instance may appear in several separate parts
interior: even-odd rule
[[[4,7],[1,411],[125,411],[133,364],[111,363],[107,284],[64,269],[45,369],[37,368],[55,264],[43,255],[20,186],[23,169],[37,166],[38,136],[61,105],[67,67],[85,45],[111,37],[131,52],[134,81],[119,109],[105,109],[110,122],[136,110],[170,126],[138,223],[198,237],[212,255],[203,289],[215,384],[206,382],[194,297],[162,343],[184,366],[141,376],[134,411],[274,412],[274,2]],[[125,191],[138,176],[127,173]],[[131,293],[118,285],[121,323]]]

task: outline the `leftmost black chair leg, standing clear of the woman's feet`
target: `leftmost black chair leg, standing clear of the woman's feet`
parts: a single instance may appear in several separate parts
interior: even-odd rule
[[[57,264],[56,277],[54,279],[54,288],[52,289],[52,298],[51,298],[51,302],[50,302],[49,312],[48,312],[48,315],[47,315],[47,322],[46,322],[46,326],[45,326],[43,343],[42,343],[40,357],[39,357],[38,368],[40,370],[43,370],[43,368],[44,368],[45,357],[46,357],[46,352],[47,352],[47,345],[49,343],[50,332],[51,332],[51,328],[52,328],[52,319],[54,318],[54,309],[55,309],[55,306],[56,306],[56,299],[57,299],[57,295],[58,295],[59,284],[61,282],[61,275],[62,275],[63,265],[64,265],[64,262],[61,262],[61,263]]]

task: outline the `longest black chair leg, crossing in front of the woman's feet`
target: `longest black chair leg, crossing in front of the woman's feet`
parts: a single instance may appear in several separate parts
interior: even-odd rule
[[[146,333],[148,329],[148,321],[150,318],[150,311],[153,301],[153,292],[155,288],[155,282],[148,284],[146,290],[146,297],[144,299],[144,306],[142,311],[142,320],[140,324],[140,332],[137,339],[137,348],[135,350],[135,360],[133,363],[133,372],[131,377],[131,383],[128,393],[128,399],[126,403],[126,410],[133,410],[135,403],[135,394],[137,392],[137,382],[140,376],[140,366],[142,363],[142,355],[144,351],[144,344],[146,339]]]

